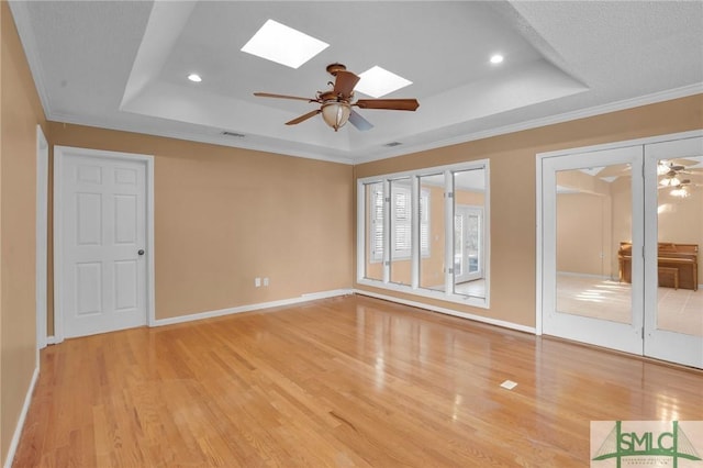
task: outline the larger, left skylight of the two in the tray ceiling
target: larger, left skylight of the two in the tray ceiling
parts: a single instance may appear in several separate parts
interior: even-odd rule
[[[305,33],[274,20],[267,20],[242,47],[242,52],[298,68],[328,46],[330,44]]]

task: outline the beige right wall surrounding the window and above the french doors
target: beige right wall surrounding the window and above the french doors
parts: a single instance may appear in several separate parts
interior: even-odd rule
[[[535,325],[535,155],[703,129],[703,94],[359,165],[357,178],[490,159],[491,309],[357,285],[387,296]]]

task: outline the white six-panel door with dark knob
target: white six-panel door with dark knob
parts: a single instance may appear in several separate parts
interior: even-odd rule
[[[146,161],[66,147],[55,155],[63,337],[145,325]]]

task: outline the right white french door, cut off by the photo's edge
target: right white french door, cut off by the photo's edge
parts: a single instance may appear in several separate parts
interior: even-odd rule
[[[672,166],[682,169],[673,176],[679,183],[668,186],[662,181],[671,181],[665,171]],[[688,255],[672,265],[663,258],[645,263],[644,354],[703,368],[703,290],[687,289],[702,282],[703,137],[645,145],[645,257],[669,255],[658,255],[658,242],[689,244],[699,247],[699,265],[694,270]],[[673,272],[667,270],[673,265],[681,266],[679,289],[658,288],[659,276]]]

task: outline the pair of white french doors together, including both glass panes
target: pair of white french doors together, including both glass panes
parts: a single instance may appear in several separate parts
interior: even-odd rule
[[[538,166],[543,333],[703,368],[701,266],[682,254],[703,244],[703,138],[542,155]],[[662,245],[681,250],[670,255],[680,268]]]

